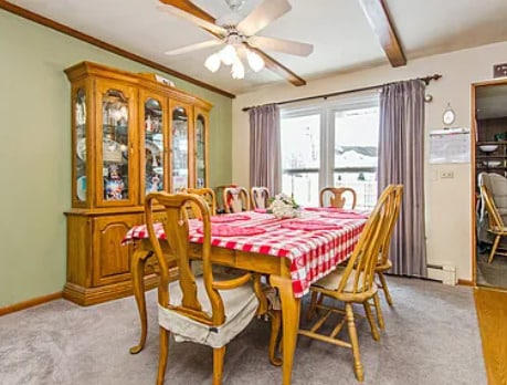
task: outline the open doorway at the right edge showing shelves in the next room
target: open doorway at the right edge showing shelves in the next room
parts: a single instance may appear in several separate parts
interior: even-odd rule
[[[480,185],[485,185],[507,225],[507,79],[472,84],[472,162],[474,239],[472,266],[474,283],[507,288],[507,236],[492,257],[495,236]]]

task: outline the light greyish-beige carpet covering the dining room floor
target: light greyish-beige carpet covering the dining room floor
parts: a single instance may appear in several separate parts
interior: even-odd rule
[[[477,318],[469,288],[388,278],[394,308],[382,300],[387,330],[380,342],[358,321],[365,384],[486,384]],[[306,310],[306,300],[304,302]],[[155,384],[158,358],[156,291],[148,293],[145,350],[130,355],[139,326],[133,298],[92,308],[59,300],[0,318],[0,384]],[[224,385],[279,384],[267,360],[268,324],[254,320],[228,345]],[[207,346],[169,346],[166,384],[211,384]],[[351,352],[300,336],[294,385],[356,384]]]

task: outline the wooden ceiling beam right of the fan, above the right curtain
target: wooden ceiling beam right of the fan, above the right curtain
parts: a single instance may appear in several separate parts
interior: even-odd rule
[[[360,0],[362,11],[382,45],[392,66],[406,65],[406,59],[389,17],[385,0]]]

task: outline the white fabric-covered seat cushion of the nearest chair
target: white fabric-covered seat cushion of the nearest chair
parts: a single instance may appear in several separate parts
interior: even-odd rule
[[[211,316],[211,304],[204,289],[203,278],[198,277],[196,284],[202,310]],[[258,300],[251,283],[236,289],[219,290],[219,292],[225,311],[225,322],[222,325],[202,324],[160,304],[158,306],[159,325],[169,330],[178,342],[192,341],[212,347],[226,345],[255,316]],[[169,296],[172,305],[181,304],[182,294],[179,281],[169,284]]]

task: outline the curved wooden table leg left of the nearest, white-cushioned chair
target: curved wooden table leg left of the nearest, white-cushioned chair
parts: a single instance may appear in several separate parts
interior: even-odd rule
[[[145,346],[146,336],[148,334],[148,319],[146,315],[146,300],[145,300],[145,262],[152,254],[151,251],[147,250],[135,250],[131,264],[130,273],[133,279],[133,291],[136,298],[137,309],[139,311],[141,335],[139,344],[130,347],[130,354],[139,353]]]

